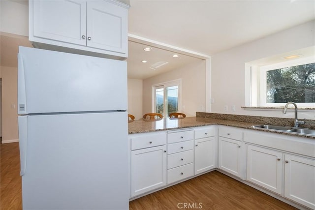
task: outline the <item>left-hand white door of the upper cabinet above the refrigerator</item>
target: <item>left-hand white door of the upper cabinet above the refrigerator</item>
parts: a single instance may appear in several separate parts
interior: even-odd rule
[[[39,38],[86,45],[86,2],[30,0],[30,40]],[[32,11],[33,10],[33,11]]]

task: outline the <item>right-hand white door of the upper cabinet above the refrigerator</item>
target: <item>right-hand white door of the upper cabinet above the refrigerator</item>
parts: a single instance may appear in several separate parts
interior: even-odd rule
[[[87,1],[87,46],[127,54],[127,16],[114,3]]]

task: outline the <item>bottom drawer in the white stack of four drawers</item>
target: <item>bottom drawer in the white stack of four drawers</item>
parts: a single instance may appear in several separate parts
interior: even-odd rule
[[[167,170],[167,184],[193,176],[193,163]]]

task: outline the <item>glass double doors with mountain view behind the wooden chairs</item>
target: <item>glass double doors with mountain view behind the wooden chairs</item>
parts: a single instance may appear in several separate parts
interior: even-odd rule
[[[175,80],[153,86],[153,112],[167,117],[172,112],[179,112],[181,80]]]

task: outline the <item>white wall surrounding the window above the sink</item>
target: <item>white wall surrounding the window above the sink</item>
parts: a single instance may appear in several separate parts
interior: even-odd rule
[[[218,40],[220,41],[220,40]],[[315,45],[315,21],[211,56],[212,113],[293,118],[294,112],[244,110],[245,63]],[[228,105],[228,111],[224,111]],[[231,111],[231,106],[236,111]],[[299,111],[299,119],[315,119],[315,112]]]

